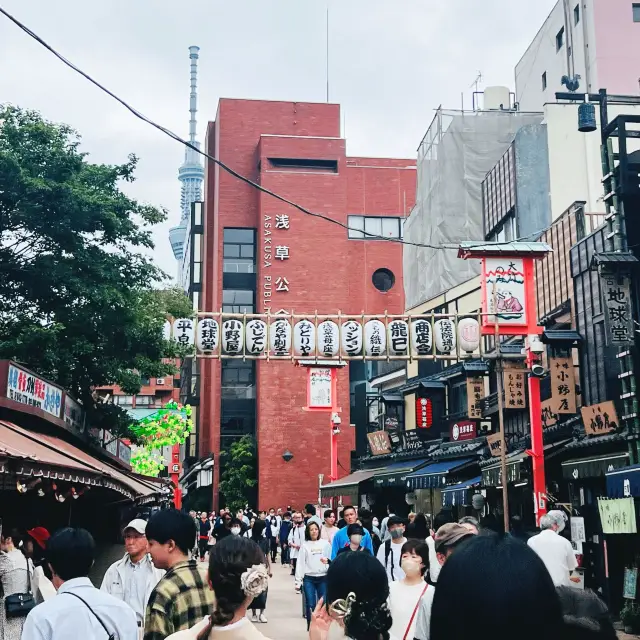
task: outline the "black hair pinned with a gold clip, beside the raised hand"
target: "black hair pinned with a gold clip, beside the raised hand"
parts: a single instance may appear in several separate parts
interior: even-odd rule
[[[344,619],[345,636],[353,640],[389,640],[389,580],[382,563],[371,554],[341,553],[329,566],[327,607],[350,593],[356,599]]]

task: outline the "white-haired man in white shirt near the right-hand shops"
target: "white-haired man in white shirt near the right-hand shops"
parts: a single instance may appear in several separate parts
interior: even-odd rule
[[[571,572],[578,566],[571,543],[563,538],[560,532],[565,526],[565,515],[562,511],[549,511],[540,518],[542,531],[527,544],[540,556],[551,575],[556,587],[570,586],[573,579]]]

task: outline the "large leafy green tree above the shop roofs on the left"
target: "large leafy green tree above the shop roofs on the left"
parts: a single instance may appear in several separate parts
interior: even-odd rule
[[[151,227],[166,213],[121,191],[137,160],[92,164],[80,138],[40,114],[0,105],[0,358],[57,382],[96,426],[130,419],[93,389],[139,391],[174,371],[166,313],[190,312],[178,290],[154,290]]]

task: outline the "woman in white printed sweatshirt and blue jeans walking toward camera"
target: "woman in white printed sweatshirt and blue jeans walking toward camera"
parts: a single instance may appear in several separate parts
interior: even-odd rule
[[[311,612],[318,600],[327,592],[327,571],[331,559],[331,545],[320,538],[320,527],[309,522],[305,531],[305,542],[300,548],[296,563],[296,590],[304,590],[307,629],[311,624]]]

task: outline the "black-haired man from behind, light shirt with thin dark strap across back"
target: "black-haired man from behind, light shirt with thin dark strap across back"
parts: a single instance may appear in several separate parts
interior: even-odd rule
[[[138,637],[133,609],[96,589],[87,577],[95,559],[95,542],[88,531],[61,529],[47,541],[45,557],[58,594],[31,610],[22,640]]]

